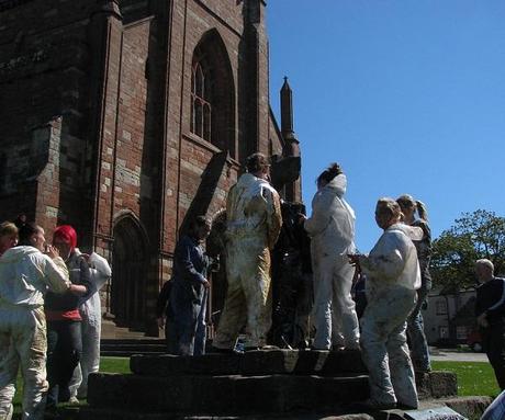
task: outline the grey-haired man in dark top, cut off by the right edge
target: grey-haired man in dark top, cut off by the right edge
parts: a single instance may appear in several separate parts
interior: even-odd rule
[[[494,276],[490,260],[475,262],[480,283],[476,288],[475,316],[481,328],[484,350],[500,387],[505,389],[505,279]]]

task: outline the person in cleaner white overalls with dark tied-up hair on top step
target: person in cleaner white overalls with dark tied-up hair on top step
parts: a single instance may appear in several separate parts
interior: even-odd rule
[[[355,212],[345,201],[347,178],[338,163],[332,163],[317,178],[312,215],[304,222],[311,237],[314,273],[313,349],[359,348],[359,323],[351,288],[355,270],[346,254],[355,252]]]

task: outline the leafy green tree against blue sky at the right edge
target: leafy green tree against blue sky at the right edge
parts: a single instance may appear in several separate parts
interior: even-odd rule
[[[505,275],[505,217],[478,209],[463,213],[433,242],[431,274],[449,293],[475,284],[474,263],[491,260],[496,275]]]

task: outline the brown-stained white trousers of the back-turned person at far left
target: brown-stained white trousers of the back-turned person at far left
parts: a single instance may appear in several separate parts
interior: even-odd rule
[[[0,304],[0,419],[10,419],[15,379],[23,374],[23,420],[43,419],[46,381],[44,309]]]

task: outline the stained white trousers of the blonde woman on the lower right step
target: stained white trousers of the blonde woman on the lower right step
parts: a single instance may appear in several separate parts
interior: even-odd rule
[[[370,397],[379,404],[417,407],[406,343],[406,320],[414,308],[416,291],[397,286],[375,288],[367,293],[367,298],[361,318],[361,355],[369,371]]]

